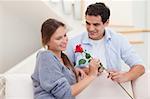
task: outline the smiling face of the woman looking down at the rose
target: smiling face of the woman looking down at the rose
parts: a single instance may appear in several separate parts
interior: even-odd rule
[[[68,42],[68,37],[66,33],[67,33],[66,28],[60,26],[51,36],[47,44],[49,46],[49,50],[52,50],[53,52],[60,52],[66,50]]]

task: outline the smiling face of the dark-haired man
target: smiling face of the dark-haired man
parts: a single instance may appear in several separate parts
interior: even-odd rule
[[[108,25],[108,21],[102,22],[101,16],[86,15],[86,28],[89,38],[99,40],[103,38],[104,28]]]

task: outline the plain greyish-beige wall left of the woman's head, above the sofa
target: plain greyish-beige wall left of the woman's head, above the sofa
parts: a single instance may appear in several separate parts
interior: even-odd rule
[[[41,24],[58,18],[43,1],[0,1],[0,73],[41,47]]]

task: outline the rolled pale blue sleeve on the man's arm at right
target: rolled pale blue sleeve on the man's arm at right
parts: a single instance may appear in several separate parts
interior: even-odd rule
[[[142,59],[137,55],[127,38],[122,39],[121,46],[121,57],[126,64],[130,67],[136,64],[143,64]]]

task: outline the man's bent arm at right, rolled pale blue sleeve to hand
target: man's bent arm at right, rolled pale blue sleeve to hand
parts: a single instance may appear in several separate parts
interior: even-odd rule
[[[121,38],[120,55],[122,60],[130,67],[130,70],[127,72],[112,71],[110,72],[110,78],[117,82],[126,82],[137,79],[145,72],[145,68],[142,65],[143,60],[137,55],[128,39],[126,37]]]

